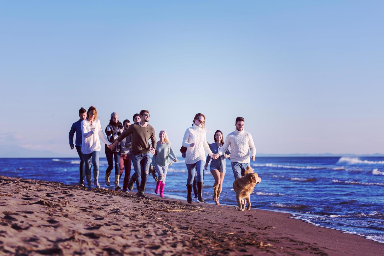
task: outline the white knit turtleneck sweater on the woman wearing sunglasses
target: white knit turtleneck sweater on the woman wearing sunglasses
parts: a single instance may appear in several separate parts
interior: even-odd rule
[[[195,143],[194,147],[190,147],[191,143]],[[201,127],[193,124],[189,127],[184,134],[183,146],[187,148],[187,154],[185,155],[185,164],[195,164],[197,161],[205,162],[205,151],[208,155],[213,155],[207,143],[207,134]]]

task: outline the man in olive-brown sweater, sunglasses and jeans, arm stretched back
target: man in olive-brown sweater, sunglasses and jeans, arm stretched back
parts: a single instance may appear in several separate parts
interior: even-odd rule
[[[141,197],[146,197],[144,191],[149,174],[149,164],[151,162],[151,155],[155,154],[156,151],[155,129],[153,129],[153,127],[148,124],[149,116],[149,111],[140,111],[141,121],[129,126],[129,128],[122,132],[122,134],[118,137],[117,140],[115,140],[113,144],[108,146],[109,148],[113,148],[122,139],[127,137],[129,134],[132,134],[131,157],[135,173],[129,179],[128,189],[132,190],[134,182],[137,180],[137,178],[141,177],[138,193]],[[149,139],[151,139],[152,149],[148,143]]]

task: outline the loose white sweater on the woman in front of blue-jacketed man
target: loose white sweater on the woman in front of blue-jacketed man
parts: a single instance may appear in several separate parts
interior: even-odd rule
[[[94,128],[94,130],[92,129]],[[81,152],[83,154],[91,154],[93,151],[100,151],[100,140],[107,145],[111,145],[107,136],[101,130],[99,119],[91,124],[87,119],[81,121],[81,135],[83,136],[83,143],[81,144]]]

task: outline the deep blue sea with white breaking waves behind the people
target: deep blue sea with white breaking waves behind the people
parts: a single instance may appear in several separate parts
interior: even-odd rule
[[[0,159],[0,175],[78,184],[79,162],[78,158]],[[107,165],[100,158],[99,182],[105,188]],[[251,195],[253,208],[285,211],[292,218],[384,243],[384,157],[257,157],[251,166],[262,178]],[[114,170],[112,185],[113,174]],[[184,159],[179,157],[168,168],[164,194],[186,199],[187,175]],[[233,181],[227,160],[221,204],[237,205]],[[213,183],[205,170],[207,203],[214,203]],[[149,175],[147,192],[153,193],[155,186]]]

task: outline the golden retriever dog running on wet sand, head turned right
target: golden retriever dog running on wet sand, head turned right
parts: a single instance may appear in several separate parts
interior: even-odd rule
[[[252,167],[247,166],[243,177],[237,178],[233,182],[233,190],[236,192],[236,200],[239,211],[245,211],[246,201],[248,202],[247,210],[251,210],[250,195],[255,189],[255,185],[260,183],[262,179],[253,172]]]

